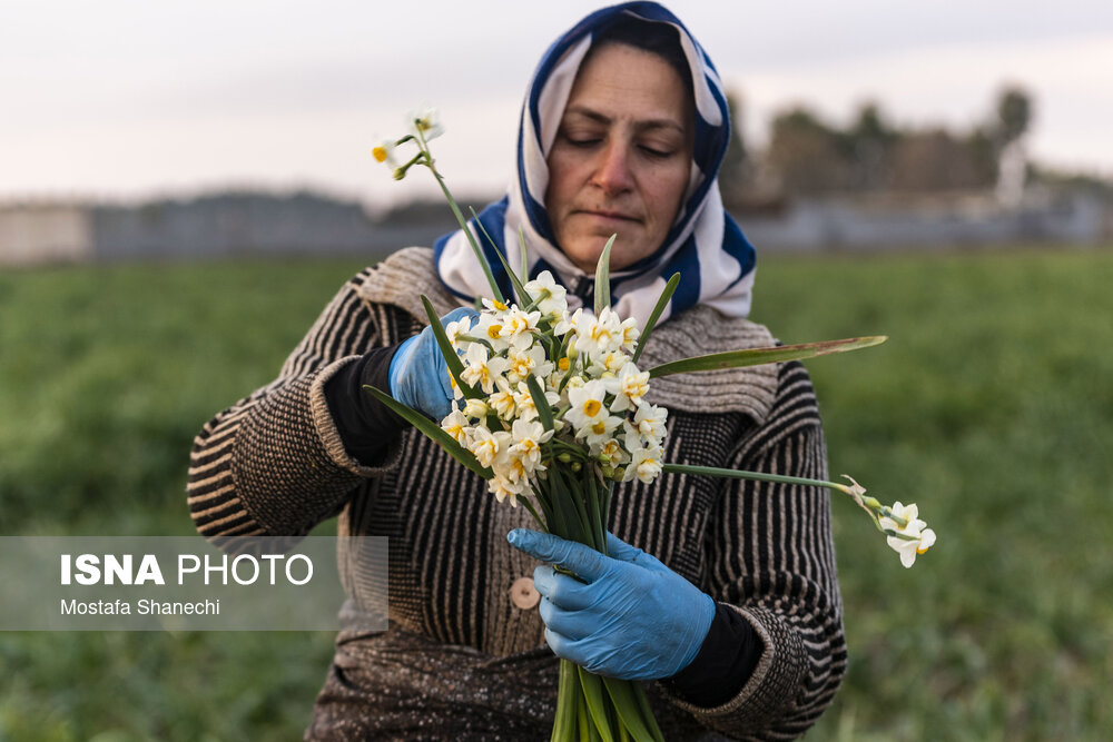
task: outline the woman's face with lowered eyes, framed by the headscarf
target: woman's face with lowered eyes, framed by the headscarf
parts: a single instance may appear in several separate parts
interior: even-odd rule
[[[657,55],[609,44],[580,68],[549,152],[545,208],[584,273],[611,235],[611,270],[664,241],[688,188],[693,118],[680,76]]]

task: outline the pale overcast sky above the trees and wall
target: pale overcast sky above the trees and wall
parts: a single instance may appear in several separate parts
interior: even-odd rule
[[[457,192],[506,182],[524,86],[601,3],[420,0],[0,0],[0,198],[313,187],[384,205],[375,133],[436,105]],[[805,102],[845,123],[968,127],[997,91],[1033,96],[1033,157],[1113,176],[1113,2],[667,3],[716,61],[760,142]]]

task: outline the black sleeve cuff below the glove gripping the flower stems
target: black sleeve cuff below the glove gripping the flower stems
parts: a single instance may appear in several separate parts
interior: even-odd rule
[[[696,706],[713,709],[741,692],[765,646],[738,611],[716,603],[715,619],[691,664],[662,682]]]

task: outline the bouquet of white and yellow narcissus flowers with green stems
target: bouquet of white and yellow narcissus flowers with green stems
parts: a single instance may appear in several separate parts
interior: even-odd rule
[[[869,347],[885,337],[828,340],[805,345],[749,348],[701,356],[641,369],[641,349],[679,284],[669,280],[643,327],[620,318],[610,307],[611,240],[595,268],[593,311],[570,314],[564,288],[551,274],[526,280],[504,263],[514,298],[504,297],[483,251],[433,164],[429,139],[441,132],[432,111],[411,118],[412,131],[374,150],[392,165],[394,149],[413,142],[417,154],[395,166],[403,178],[414,165],[427,167],[441,185],[492,296],[477,315],[442,326],[432,305],[425,310],[452,378],[455,404],[440,423],[367,387],[383,404],[436,441],[462,465],[487,482],[490,492],[512,506],[523,505],[545,532],[607,552],[611,489],[617,482],[652,482],[661,474],[807,484],[850,495],[910,566],[934,542],[916,505],[886,506],[854,479],[848,484],[792,476],[688,466],[662,461],[668,410],[647,402],[653,378],[726,367],[810,358]],[[521,265],[528,265],[525,246]],[[501,254],[500,254],[500,257]],[[661,740],[639,682],[594,675],[561,660],[553,740]]]

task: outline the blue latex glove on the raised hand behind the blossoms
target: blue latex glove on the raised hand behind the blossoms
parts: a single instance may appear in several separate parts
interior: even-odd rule
[[[441,324],[447,325],[464,317],[477,316],[479,313],[474,309],[460,307],[441,317]],[[388,374],[391,396],[407,407],[418,409],[436,421],[452,412],[449,366],[444,363],[432,327],[426,327],[398,346],[391,359]]]

